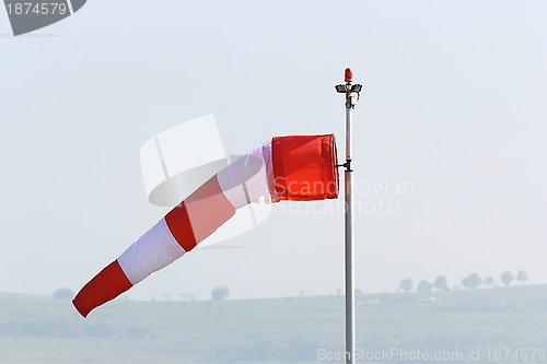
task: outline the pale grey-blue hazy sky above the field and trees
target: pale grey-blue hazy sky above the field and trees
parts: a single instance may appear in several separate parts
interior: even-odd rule
[[[139,151],[174,125],[214,114],[231,154],[329,132],[341,151],[346,67],[363,84],[361,191],[414,187],[358,196],[399,209],[357,215],[356,286],[520,269],[547,283],[545,19],[544,1],[90,1],[0,37],[0,292],[78,291],[151,227],[168,209],[147,201]],[[334,206],[275,206],[225,243],[245,249],[194,251],[128,295],[336,293]]]

